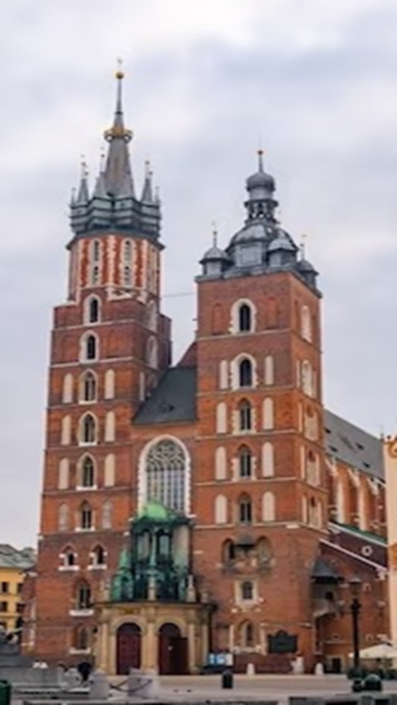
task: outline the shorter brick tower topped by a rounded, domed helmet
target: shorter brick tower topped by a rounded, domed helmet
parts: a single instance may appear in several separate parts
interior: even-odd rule
[[[243,228],[197,278],[195,571],[219,606],[214,650],[255,660],[287,632],[310,657],[327,521],[320,294],[276,219],[262,153],[247,190]]]

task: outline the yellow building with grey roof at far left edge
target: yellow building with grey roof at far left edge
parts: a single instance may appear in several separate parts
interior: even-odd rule
[[[0,544],[0,627],[6,632],[16,628],[16,620],[23,612],[23,581],[35,565],[32,548],[17,548]]]

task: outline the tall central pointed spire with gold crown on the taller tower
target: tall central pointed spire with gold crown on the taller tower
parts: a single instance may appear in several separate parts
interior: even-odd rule
[[[124,73],[119,68],[116,71],[116,111],[113,125],[104,133],[105,140],[109,142],[109,150],[104,169],[106,192],[114,197],[134,194],[133,178],[131,176],[130,155],[128,142],[133,133],[124,126],[123,118],[123,83]]]

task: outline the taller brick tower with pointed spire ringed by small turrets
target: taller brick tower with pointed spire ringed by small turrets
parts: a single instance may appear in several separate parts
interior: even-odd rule
[[[67,302],[54,310],[37,567],[37,655],[91,652],[94,617],[135,505],[130,424],[170,361],[160,302],[160,207],[135,192],[123,73],[90,193],[71,201]]]

